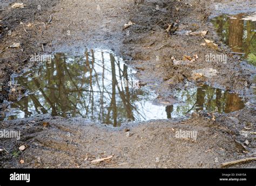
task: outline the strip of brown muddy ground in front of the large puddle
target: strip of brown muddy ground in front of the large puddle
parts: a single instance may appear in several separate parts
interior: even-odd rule
[[[252,111],[247,113],[251,115]],[[245,123],[244,115],[238,118],[217,116],[217,121],[212,121],[207,115],[193,115],[188,120],[127,123],[117,128],[78,118],[44,116],[12,121],[1,125],[15,129],[22,124],[22,138],[11,140],[11,145],[10,139],[1,142],[9,152],[2,152],[1,162],[5,168],[220,168],[223,162],[250,156],[235,139],[248,139],[248,148],[255,146],[255,134],[246,138],[239,135],[244,127],[252,127],[250,121],[246,119]],[[48,125],[43,126],[44,122]],[[234,127],[237,122],[239,128]],[[197,139],[177,138],[180,130],[197,131]],[[12,158],[11,152],[22,145],[26,149]],[[91,163],[109,156],[113,157],[106,162]],[[253,168],[255,163],[233,167]]]

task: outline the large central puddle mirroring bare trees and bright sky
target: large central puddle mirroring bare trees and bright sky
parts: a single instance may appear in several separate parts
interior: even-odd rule
[[[147,85],[138,88],[134,73],[109,51],[90,50],[75,57],[57,53],[51,62],[14,77],[13,83],[27,92],[9,105],[0,120],[49,113],[120,126],[125,121],[176,118],[200,110],[228,113],[245,106],[238,95],[208,85],[177,90],[173,98],[179,102],[171,104],[156,99]]]

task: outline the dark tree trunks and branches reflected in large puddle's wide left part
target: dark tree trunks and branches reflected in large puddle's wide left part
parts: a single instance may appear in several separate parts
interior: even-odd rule
[[[80,115],[114,126],[127,119],[144,118],[145,113],[134,104],[138,97],[129,88],[127,66],[112,54],[100,52],[98,57],[93,50],[74,58],[56,54],[51,63],[45,62],[31,75],[18,78],[23,87],[36,93],[13,106],[25,116],[31,112],[63,117]]]

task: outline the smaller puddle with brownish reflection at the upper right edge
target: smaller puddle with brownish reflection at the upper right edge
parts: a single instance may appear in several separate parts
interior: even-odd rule
[[[221,41],[230,46],[233,53],[244,58],[250,53],[256,54],[256,22],[242,20],[246,16],[248,15],[244,13],[234,16],[221,15],[212,20]]]

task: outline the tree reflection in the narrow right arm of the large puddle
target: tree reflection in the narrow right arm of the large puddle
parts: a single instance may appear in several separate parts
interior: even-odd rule
[[[237,94],[230,94],[228,91],[214,89],[208,85],[200,86],[197,89],[183,90],[178,94],[177,99],[186,104],[177,106],[177,109],[167,106],[168,118],[171,117],[171,114],[182,116],[192,111],[214,112],[216,107],[218,112],[228,113],[240,110],[245,106]]]

